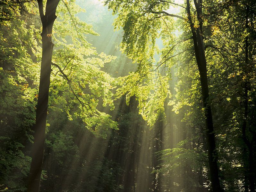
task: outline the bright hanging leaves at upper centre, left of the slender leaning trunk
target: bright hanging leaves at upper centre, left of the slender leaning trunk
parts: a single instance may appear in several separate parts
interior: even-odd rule
[[[136,96],[139,113],[150,126],[159,113],[164,113],[164,103],[169,92],[170,68],[173,66],[174,21],[172,17],[156,14],[169,9],[168,2],[158,1],[106,1],[118,17],[115,28],[124,31],[122,50],[137,63],[137,71],[117,79],[116,97],[126,94],[126,100]],[[159,50],[156,39],[160,38],[164,48]],[[155,60],[155,55],[160,56]]]

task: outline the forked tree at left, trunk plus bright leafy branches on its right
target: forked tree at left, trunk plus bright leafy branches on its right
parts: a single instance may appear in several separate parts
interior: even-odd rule
[[[116,123],[111,120],[111,116],[97,109],[98,97],[104,94],[102,105],[114,107],[111,99],[113,96],[111,89],[113,87],[110,84],[113,78],[101,71],[100,68],[104,66],[104,63],[110,62],[115,57],[108,56],[103,52],[97,54],[86,41],[84,36],[86,33],[97,34],[93,32],[90,25],[75,17],[75,14],[81,9],[74,2],[69,4],[62,2],[60,6],[61,13],[57,12],[61,21],[56,21],[55,30],[58,34],[54,37],[52,32],[58,4],[58,0],[47,1],[44,13],[43,2],[38,1],[43,26],[41,33],[42,60],[36,123],[33,128],[34,144],[31,151],[32,161],[28,191],[38,191],[40,185],[51,74],[55,77],[53,88],[59,88],[53,92],[61,92],[64,100],[67,100],[66,102],[70,105],[67,108],[77,110],[66,110],[70,120],[73,120],[73,118],[81,119],[83,126],[98,137],[106,137],[109,128],[117,129]],[[65,23],[65,27],[62,22]],[[73,33],[70,33],[70,31],[73,31]],[[71,37],[69,41],[72,44],[67,45],[64,38],[68,35]],[[61,46],[62,49],[53,52],[52,38],[54,38],[57,46]],[[93,55],[97,57],[93,57]],[[55,63],[52,62],[52,58],[54,58]],[[52,66],[55,67],[53,70]],[[66,73],[67,70],[69,70],[68,73]],[[64,81],[60,83],[60,80]],[[73,114],[70,114],[71,112]]]

